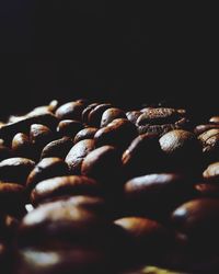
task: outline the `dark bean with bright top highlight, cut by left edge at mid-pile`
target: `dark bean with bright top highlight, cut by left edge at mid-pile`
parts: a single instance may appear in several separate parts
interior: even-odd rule
[[[35,162],[26,158],[9,158],[0,162],[0,180],[25,184]]]

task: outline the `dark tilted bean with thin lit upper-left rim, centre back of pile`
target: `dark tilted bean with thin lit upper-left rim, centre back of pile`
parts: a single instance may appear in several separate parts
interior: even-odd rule
[[[137,128],[131,122],[118,118],[111,122],[106,127],[99,129],[94,139],[97,147],[111,145],[123,150],[137,135]]]

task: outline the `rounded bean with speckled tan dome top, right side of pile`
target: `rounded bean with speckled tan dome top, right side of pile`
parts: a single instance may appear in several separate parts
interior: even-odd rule
[[[196,136],[187,130],[175,129],[160,138],[160,146],[166,155],[166,168],[197,174],[203,164],[201,147]]]

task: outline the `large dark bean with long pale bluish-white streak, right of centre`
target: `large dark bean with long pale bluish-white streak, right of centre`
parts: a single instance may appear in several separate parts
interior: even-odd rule
[[[124,186],[127,210],[150,218],[166,218],[168,214],[194,195],[193,181],[183,174],[160,173],[138,176]]]

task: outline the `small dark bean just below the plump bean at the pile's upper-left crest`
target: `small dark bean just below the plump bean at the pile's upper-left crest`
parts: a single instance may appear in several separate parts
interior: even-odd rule
[[[82,128],[83,126],[79,121],[62,119],[58,124],[57,132],[60,136],[74,137]]]

